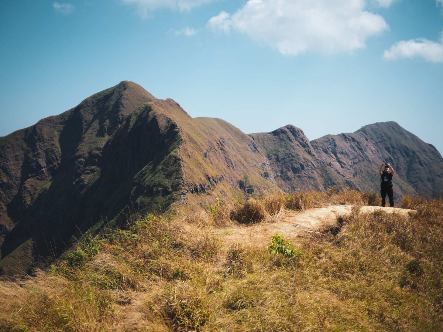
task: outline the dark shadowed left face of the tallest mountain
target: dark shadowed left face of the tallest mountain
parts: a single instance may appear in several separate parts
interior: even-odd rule
[[[47,255],[78,230],[112,219],[128,205],[131,183],[143,179],[147,167],[151,187],[142,185],[138,193],[152,197],[152,204],[159,201],[155,190],[164,205],[174,201],[182,176],[173,151],[181,137],[167,116],[143,104],[153,99],[139,85],[121,82],[0,139],[2,257],[30,241]],[[171,169],[169,185],[161,173]]]

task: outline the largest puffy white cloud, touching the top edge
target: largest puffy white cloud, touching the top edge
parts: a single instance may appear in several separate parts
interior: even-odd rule
[[[352,52],[389,29],[383,17],[364,8],[365,0],[249,0],[233,15],[212,17],[206,26],[240,31],[287,55]]]

